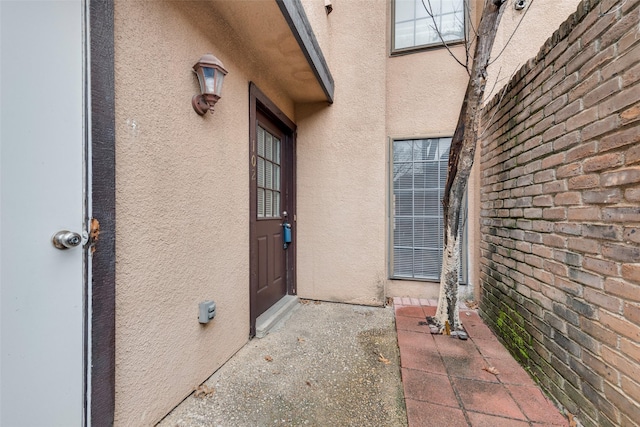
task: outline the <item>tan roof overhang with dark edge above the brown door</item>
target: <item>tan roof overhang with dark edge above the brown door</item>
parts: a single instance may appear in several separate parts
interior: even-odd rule
[[[333,77],[300,0],[211,4],[258,67],[294,102],[333,102]]]

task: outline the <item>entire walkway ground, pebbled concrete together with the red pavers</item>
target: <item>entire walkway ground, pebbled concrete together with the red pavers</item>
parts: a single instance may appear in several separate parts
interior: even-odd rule
[[[460,311],[468,340],[431,335],[419,322],[435,314],[435,305],[413,298],[395,298],[393,308],[303,300],[159,425],[569,425],[474,310]],[[483,369],[490,367],[498,373]]]

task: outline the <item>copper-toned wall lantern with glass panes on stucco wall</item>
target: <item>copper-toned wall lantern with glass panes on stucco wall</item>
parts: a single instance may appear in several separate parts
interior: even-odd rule
[[[194,95],[191,99],[191,105],[196,113],[203,116],[207,110],[213,114],[213,106],[220,99],[222,93],[222,81],[224,76],[227,75],[227,70],[224,69],[222,62],[210,53],[203,55],[196,65],[193,66],[193,71],[198,76],[200,82],[201,95]]]

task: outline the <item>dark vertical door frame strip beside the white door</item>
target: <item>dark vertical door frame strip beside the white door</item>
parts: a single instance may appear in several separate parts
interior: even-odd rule
[[[92,253],[85,254],[89,258],[85,262],[85,423],[110,426],[115,412],[116,349],[114,0],[86,1],[86,191],[90,201],[86,227],[91,231],[95,218],[99,235],[94,233]]]

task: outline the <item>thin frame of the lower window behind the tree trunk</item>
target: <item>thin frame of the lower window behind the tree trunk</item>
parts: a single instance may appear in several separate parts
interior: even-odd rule
[[[399,276],[396,275],[395,272],[395,236],[394,236],[394,232],[395,232],[395,201],[394,201],[394,196],[395,196],[395,192],[394,192],[394,181],[393,181],[393,174],[394,174],[394,165],[395,165],[395,157],[394,157],[394,144],[396,142],[403,142],[403,141],[424,141],[424,140],[429,140],[429,139],[442,139],[442,138],[451,138],[451,136],[448,135],[438,135],[438,136],[425,136],[425,137],[421,137],[421,136],[415,136],[415,137],[406,137],[406,138],[389,138],[389,146],[388,146],[388,155],[389,155],[389,161],[388,161],[388,166],[389,166],[389,170],[388,170],[388,191],[389,191],[389,197],[388,197],[388,203],[387,203],[387,209],[388,209],[388,221],[389,221],[389,226],[388,226],[388,277],[390,280],[409,280],[409,281],[418,281],[418,282],[439,282],[440,280],[440,274],[442,273],[442,265],[439,266],[439,271],[438,271],[438,277],[437,278],[428,278],[428,277],[415,277],[415,268],[412,269],[412,277],[407,277],[407,276]],[[415,162],[415,160],[412,160],[412,162]],[[440,159],[438,161],[438,164],[440,164],[441,162],[448,162],[448,156],[445,160]],[[446,179],[446,178],[445,178]],[[441,215],[441,214],[440,214]],[[444,221],[444,218],[442,218],[442,221]],[[468,224],[468,209],[467,209],[467,190],[465,190],[465,195],[464,195],[464,199],[463,199],[463,206],[462,206],[462,212],[460,215],[460,246],[459,246],[459,250],[460,250],[460,269],[459,269],[459,283],[461,285],[466,285],[468,284],[468,236],[467,236],[467,224]],[[443,228],[444,228],[444,224],[443,224]],[[443,246],[443,241],[440,240],[439,244],[438,244],[438,249],[440,252],[440,257],[442,256],[442,252],[444,251],[444,246]],[[415,246],[413,247],[413,250],[415,250]],[[441,260],[439,261],[441,263]]]

